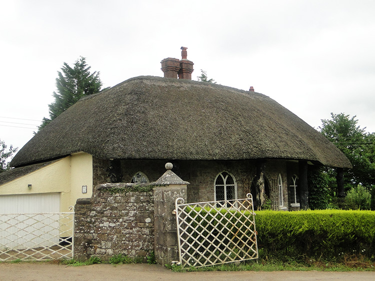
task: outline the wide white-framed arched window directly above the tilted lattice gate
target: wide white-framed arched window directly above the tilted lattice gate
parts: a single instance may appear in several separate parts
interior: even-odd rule
[[[237,199],[237,184],[232,175],[222,172],[215,179],[215,201]]]

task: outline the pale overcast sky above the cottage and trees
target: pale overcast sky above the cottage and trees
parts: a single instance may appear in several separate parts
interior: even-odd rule
[[[253,86],[312,127],[356,115],[375,132],[374,0],[0,0],[0,139],[21,148],[48,117],[63,62],[83,56],[103,87],[194,62]],[[19,118],[19,119],[16,119]],[[26,125],[32,124],[32,125]],[[27,128],[26,128],[27,127]]]

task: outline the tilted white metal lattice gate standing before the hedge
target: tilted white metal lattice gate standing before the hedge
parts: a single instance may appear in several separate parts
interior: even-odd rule
[[[205,267],[258,258],[251,194],[245,199],[175,201],[179,261]]]

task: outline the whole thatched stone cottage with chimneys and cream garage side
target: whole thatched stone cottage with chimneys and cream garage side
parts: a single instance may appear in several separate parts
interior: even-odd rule
[[[251,192],[258,207],[269,198],[275,210],[295,210],[308,207],[308,169],[351,167],[268,96],[192,81],[186,48],[161,66],[163,78],[134,77],[83,97],[38,132],[0,174],[0,200],[54,195],[66,211],[98,184],[152,182],[171,162],[190,183],[189,202]]]

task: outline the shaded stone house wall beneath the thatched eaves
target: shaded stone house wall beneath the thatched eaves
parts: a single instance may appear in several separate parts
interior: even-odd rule
[[[97,160],[96,183],[103,183],[105,179],[110,179],[109,173],[111,165],[107,162]],[[164,171],[165,160],[120,160],[119,173],[122,182],[130,182],[137,172],[144,173],[149,182],[158,179]],[[214,181],[217,175],[223,171],[230,173],[236,180],[237,197],[244,198],[250,192],[250,186],[255,178],[256,163],[251,160],[237,161],[187,161],[174,160],[172,171],[181,179],[188,181],[190,184],[187,188],[187,202],[204,202],[214,200]],[[116,164],[116,165],[117,165]],[[101,170],[100,170],[100,165]],[[113,170],[113,169],[112,169]],[[298,173],[298,163],[284,160],[266,160],[265,177],[269,186],[270,199],[277,196],[277,179],[281,175],[283,186],[283,201],[285,210],[290,208],[289,202],[289,180],[291,175]],[[278,209],[278,203],[273,202],[275,209]]]

